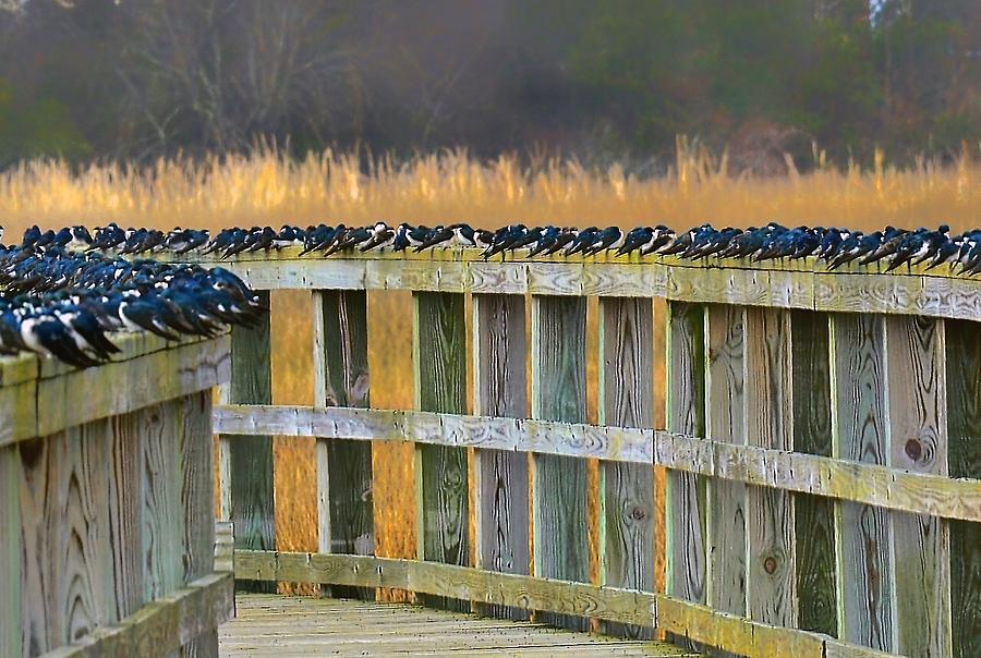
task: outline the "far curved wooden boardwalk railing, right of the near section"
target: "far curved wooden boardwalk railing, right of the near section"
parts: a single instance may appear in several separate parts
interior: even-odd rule
[[[233,331],[215,424],[237,577],[397,587],[746,655],[981,655],[981,281],[453,249],[223,265],[315,302],[313,407],[270,404],[268,326]],[[367,409],[366,291],[391,289],[413,293],[413,411]],[[598,426],[585,424],[590,296]],[[272,435],[317,438],[318,553],[275,551]],[[372,557],[371,441],[416,446],[415,560]],[[586,459],[600,460],[598,556]]]

